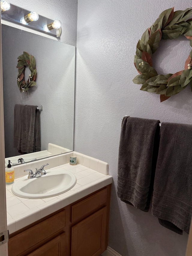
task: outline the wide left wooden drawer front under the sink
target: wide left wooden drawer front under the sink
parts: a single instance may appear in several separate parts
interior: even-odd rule
[[[64,227],[65,211],[62,211],[10,238],[8,242],[9,256],[27,255],[30,251],[47,242],[43,241],[44,239],[51,237],[59,230],[62,233]]]

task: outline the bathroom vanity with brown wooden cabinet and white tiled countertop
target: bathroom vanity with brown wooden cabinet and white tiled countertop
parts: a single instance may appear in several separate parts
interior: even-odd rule
[[[99,256],[106,250],[112,176],[108,175],[106,162],[74,153],[77,165],[69,164],[71,153],[52,156],[43,161],[50,166],[54,160],[55,166],[46,169],[45,176],[34,178],[40,188],[50,173],[73,174],[76,184],[62,194],[29,199],[14,195],[12,184],[6,186],[9,256]],[[27,163],[27,169],[34,170],[38,162],[43,163]],[[22,165],[14,168],[18,177],[15,186],[21,181],[29,186],[33,179],[27,179]]]

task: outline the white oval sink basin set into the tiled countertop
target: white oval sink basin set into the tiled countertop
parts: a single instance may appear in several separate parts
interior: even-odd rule
[[[61,170],[47,170],[47,174],[28,179],[23,176],[13,183],[12,192],[24,198],[53,197],[70,190],[76,184],[73,173]]]

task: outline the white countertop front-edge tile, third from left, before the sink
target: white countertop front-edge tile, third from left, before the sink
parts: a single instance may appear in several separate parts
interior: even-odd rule
[[[41,210],[41,218],[44,218],[45,216],[61,209],[61,200],[55,198],[37,207]]]

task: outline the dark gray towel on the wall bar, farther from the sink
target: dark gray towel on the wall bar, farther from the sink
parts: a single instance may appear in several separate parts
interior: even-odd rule
[[[176,233],[189,233],[192,214],[192,125],[162,123],[152,215]]]

